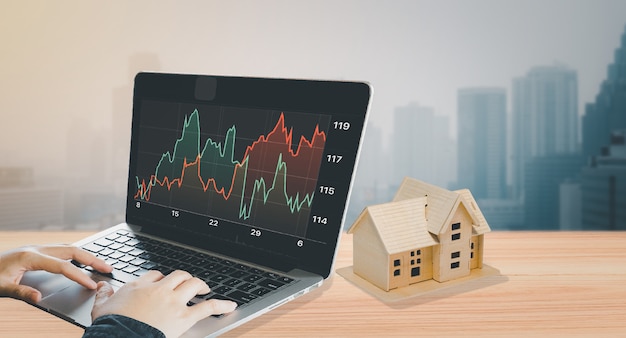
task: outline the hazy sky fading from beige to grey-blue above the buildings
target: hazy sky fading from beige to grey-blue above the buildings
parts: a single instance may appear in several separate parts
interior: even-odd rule
[[[370,122],[388,136],[394,108],[418,102],[456,138],[459,88],[510,95],[513,78],[561,63],[578,71],[582,114],[625,28],[615,0],[5,0],[0,165],[66,170],[69,125],[111,128],[113,93],[139,69],[368,81]]]

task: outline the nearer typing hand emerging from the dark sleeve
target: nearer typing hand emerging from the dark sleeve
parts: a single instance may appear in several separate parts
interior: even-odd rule
[[[194,296],[210,291],[205,282],[181,270],[167,276],[156,270],[148,271],[117,292],[110,284],[99,282],[91,318],[123,315],[161,330],[166,337],[178,337],[196,322],[232,312],[237,307],[235,302],[217,299],[187,306]]]

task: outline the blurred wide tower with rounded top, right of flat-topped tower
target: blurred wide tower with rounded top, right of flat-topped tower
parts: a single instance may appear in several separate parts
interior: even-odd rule
[[[576,180],[584,164],[576,71],[559,64],[530,69],[513,80],[512,110],[512,197],[522,201],[527,227],[558,229],[561,184]]]

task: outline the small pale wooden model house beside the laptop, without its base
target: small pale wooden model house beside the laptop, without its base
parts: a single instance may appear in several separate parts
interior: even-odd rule
[[[385,291],[465,277],[482,268],[489,231],[469,190],[405,178],[392,202],[366,207],[348,230],[354,273]]]

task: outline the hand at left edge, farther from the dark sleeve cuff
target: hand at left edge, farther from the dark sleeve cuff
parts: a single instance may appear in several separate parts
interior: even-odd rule
[[[58,273],[88,288],[95,289],[94,282],[70,260],[93,267],[108,273],[112,267],[93,254],[71,245],[37,245],[25,246],[0,253],[0,297],[12,297],[30,303],[41,300],[41,292],[20,285],[26,271],[45,270]]]

